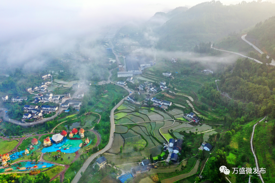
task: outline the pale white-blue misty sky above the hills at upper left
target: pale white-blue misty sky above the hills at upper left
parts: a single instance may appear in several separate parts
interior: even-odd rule
[[[204,0],[2,1],[0,62],[43,61],[43,53],[60,54],[81,39],[92,41],[101,28],[142,23],[156,12],[201,2]]]

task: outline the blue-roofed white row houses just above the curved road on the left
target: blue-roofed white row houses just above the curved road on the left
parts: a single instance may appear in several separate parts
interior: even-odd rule
[[[23,114],[24,119],[40,119],[44,114],[49,114],[51,111],[56,111],[58,109],[57,106],[51,106],[51,105],[24,105],[24,110],[26,110],[26,113]]]

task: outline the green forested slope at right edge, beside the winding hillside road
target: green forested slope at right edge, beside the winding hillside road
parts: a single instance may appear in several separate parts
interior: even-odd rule
[[[246,39],[251,41],[263,52],[275,58],[275,16],[259,22],[247,33]]]

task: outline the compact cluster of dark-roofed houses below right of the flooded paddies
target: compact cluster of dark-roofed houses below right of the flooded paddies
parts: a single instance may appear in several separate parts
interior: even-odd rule
[[[168,150],[167,148],[170,148],[171,150],[171,156],[170,156],[170,161],[173,163],[177,163],[178,160],[178,153],[181,153],[182,151],[182,139],[169,139],[168,146],[164,145],[163,150],[166,151]]]

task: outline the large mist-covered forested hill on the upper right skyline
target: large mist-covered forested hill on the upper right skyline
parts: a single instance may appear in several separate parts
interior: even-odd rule
[[[191,50],[197,42],[220,39],[275,15],[275,4],[243,1],[223,5],[220,1],[197,4],[174,16],[158,30],[157,47],[166,50]]]

